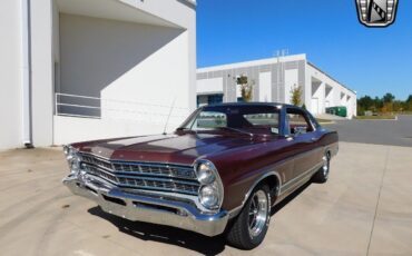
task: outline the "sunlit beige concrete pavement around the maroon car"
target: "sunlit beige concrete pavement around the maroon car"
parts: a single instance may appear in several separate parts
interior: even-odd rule
[[[374,124],[365,130],[388,126]],[[276,207],[252,252],[102,213],[61,185],[59,148],[0,152],[1,255],[412,255],[412,147],[343,134],[328,183],[307,184]]]

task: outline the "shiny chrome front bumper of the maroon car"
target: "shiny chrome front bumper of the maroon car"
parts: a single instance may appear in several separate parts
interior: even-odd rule
[[[75,195],[96,201],[104,211],[130,220],[178,227],[206,236],[222,234],[228,221],[225,210],[204,214],[188,201],[168,200],[150,194],[129,194],[87,175],[71,174],[62,183]]]

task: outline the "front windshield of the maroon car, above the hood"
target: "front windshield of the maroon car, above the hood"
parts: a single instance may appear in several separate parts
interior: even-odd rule
[[[206,106],[192,115],[180,129],[262,130],[278,134],[278,109],[274,106]]]

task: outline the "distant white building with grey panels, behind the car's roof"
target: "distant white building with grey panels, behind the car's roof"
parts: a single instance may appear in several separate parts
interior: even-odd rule
[[[347,117],[356,115],[356,92],[333,79],[306,55],[295,55],[197,69],[197,104],[242,100],[236,78],[253,83],[253,101],[291,104],[291,90],[302,87],[302,102],[314,115],[327,107],[344,106]]]

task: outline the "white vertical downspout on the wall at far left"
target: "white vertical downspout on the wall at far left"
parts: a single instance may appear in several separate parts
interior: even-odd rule
[[[33,148],[31,129],[30,0],[21,0],[22,142]]]

